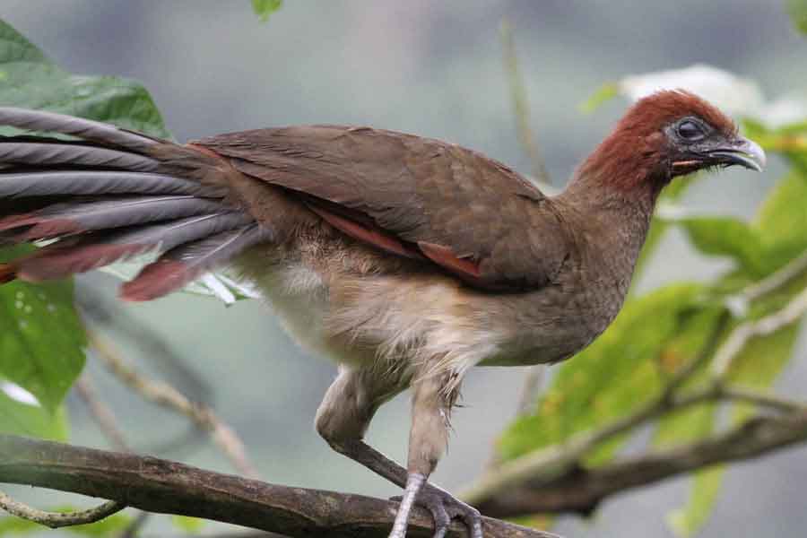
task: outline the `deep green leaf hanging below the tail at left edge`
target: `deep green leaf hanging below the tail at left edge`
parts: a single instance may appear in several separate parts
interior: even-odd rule
[[[28,249],[4,248],[0,260]],[[73,283],[0,286],[0,329],[0,377],[55,412],[84,366],[86,341],[73,304]]]

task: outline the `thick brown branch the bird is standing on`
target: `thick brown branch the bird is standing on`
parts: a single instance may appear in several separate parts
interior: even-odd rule
[[[117,500],[150,512],[202,517],[289,536],[386,537],[397,503],[291,488],[204,471],[149,456],[0,435],[0,482]],[[557,538],[484,518],[487,538]],[[431,536],[428,511],[412,511],[409,536]],[[465,535],[463,525],[448,536]]]

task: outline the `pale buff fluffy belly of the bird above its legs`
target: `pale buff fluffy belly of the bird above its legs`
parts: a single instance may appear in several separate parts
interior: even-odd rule
[[[350,293],[334,296],[300,262],[264,265],[251,278],[300,346],[340,364],[395,369],[431,361],[462,372],[499,354],[501,334],[455,281],[392,279],[362,276]]]

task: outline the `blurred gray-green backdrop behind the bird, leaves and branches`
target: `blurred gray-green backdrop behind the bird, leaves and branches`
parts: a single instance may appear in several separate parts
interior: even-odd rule
[[[261,126],[363,124],[460,143],[527,173],[502,63],[504,16],[515,27],[535,135],[559,187],[625,107],[615,100],[593,115],[579,111],[603,82],[705,62],[757,80],[770,97],[807,95],[807,40],[791,29],[783,4],[772,0],[287,1],[264,24],[246,1],[0,4],[0,18],[68,71],[143,82],[180,140]],[[784,169],[773,161],[761,176],[726,171],[692,187],[683,204],[748,216]],[[672,232],[639,285],[648,290],[681,278],[702,280],[724,264],[697,256]],[[89,275],[79,280],[79,292],[91,288],[112,298],[116,285],[110,277]],[[265,306],[242,301],[224,308],[213,299],[177,295],[119,308],[118,317],[151,326],[199,372],[265,480],[397,493],[317,437],[312,421],[334,366],[299,351]],[[118,342],[145,371],[185,385],[192,395],[206,393],[136,343]],[[800,343],[778,384],[785,393],[803,393],[804,351]],[[187,430],[186,421],[143,404],[92,363],[90,369],[134,447],[154,450]],[[459,489],[480,472],[493,439],[515,412],[523,376],[522,369],[472,372],[436,482]],[[82,405],[69,403],[72,440],[105,447]],[[369,441],[403,458],[408,412],[405,396],[387,404]],[[212,447],[166,456],[231,471]],[[702,535],[803,535],[805,456],[807,450],[796,448],[733,466]],[[666,536],[664,516],[685,496],[683,480],[632,490],[606,502],[593,522],[562,517],[555,531],[568,537]],[[204,532],[213,529],[207,525]]]

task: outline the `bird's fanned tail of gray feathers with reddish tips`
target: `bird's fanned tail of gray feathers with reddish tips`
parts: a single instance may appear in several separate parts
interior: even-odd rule
[[[224,189],[195,179],[195,162],[209,166],[209,155],[196,159],[145,134],[38,110],[0,107],[0,126],[80,139],[0,137],[0,243],[57,239],[2,265],[4,282],[63,278],[164,252],[123,294],[154,299],[272,239],[225,201]],[[163,161],[161,148],[181,164]]]

